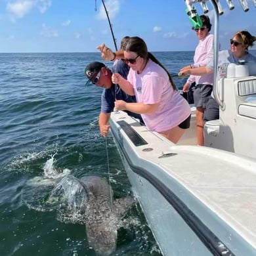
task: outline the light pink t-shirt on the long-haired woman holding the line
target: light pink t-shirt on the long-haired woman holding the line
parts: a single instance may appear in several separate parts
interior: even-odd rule
[[[190,115],[188,102],[173,90],[165,70],[152,60],[148,60],[141,74],[130,69],[127,80],[133,85],[137,102],[160,103],[156,112],[141,114],[150,130],[167,131]]]

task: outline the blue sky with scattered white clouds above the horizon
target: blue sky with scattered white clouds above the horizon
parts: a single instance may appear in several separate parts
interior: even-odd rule
[[[148,51],[194,51],[198,39],[191,29],[184,0],[104,0],[117,47],[123,36],[139,36]],[[239,30],[256,36],[253,0],[249,11],[233,0],[230,11],[220,0],[221,49]],[[199,15],[200,3],[195,3]],[[214,13],[207,1],[214,32]],[[102,0],[0,0],[0,53],[92,53],[105,43],[115,49]],[[256,49],[254,47],[253,49]]]

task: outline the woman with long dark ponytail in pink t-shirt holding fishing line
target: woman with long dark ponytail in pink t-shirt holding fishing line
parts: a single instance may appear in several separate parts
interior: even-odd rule
[[[177,91],[169,72],[148,53],[140,37],[129,38],[123,56],[130,66],[127,80],[115,73],[112,82],[118,83],[128,95],[135,95],[137,102],[116,100],[116,109],[141,114],[150,130],[176,143],[190,126],[188,102]]]

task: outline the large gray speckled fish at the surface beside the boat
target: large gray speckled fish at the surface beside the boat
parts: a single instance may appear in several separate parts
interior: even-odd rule
[[[116,251],[118,223],[135,203],[131,196],[112,201],[112,188],[97,176],[79,179],[87,192],[85,227],[89,245],[98,255],[111,255]]]

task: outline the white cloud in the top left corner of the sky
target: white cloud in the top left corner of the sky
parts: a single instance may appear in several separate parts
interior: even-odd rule
[[[39,12],[43,13],[49,7],[51,7],[50,0],[8,0],[6,10],[11,12],[13,18],[23,18],[33,8],[37,8]]]

